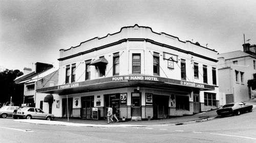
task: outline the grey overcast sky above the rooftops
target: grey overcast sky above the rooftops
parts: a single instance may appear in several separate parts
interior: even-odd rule
[[[59,49],[149,26],[219,53],[256,44],[256,1],[0,1],[0,68],[58,66]],[[34,66],[33,66],[34,68]]]

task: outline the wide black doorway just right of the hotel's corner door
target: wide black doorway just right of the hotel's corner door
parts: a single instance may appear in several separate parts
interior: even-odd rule
[[[153,119],[168,117],[169,96],[153,95]]]

